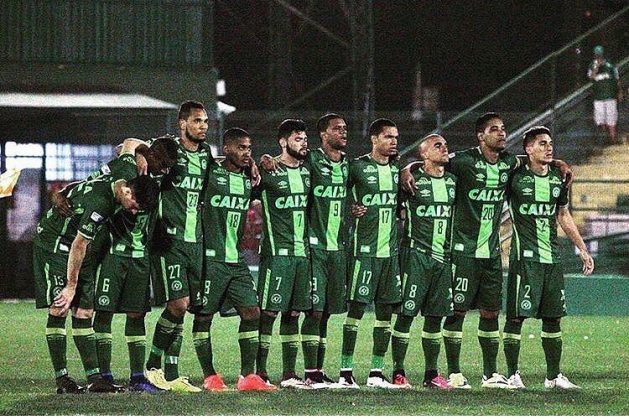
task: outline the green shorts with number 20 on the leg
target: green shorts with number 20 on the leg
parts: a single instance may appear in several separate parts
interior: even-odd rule
[[[502,307],[502,261],[452,255],[454,310],[499,311]]]

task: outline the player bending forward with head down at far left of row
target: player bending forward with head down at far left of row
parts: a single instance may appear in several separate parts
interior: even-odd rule
[[[72,308],[72,335],[92,392],[116,392],[99,371],[92,314],[94,301],[93,259],[88,245],[118,206],[137,213],[150,210],[157,199],[157,185],[147,176],[131,181],[99,178],[69,192],[74,206],[71,217],[49,210],[37,226],[34,240],[36,306],[49,308],[46,325],[48,349],[55,370],[57,393],[81,393],[84,388],[68,376],[65,319]]]

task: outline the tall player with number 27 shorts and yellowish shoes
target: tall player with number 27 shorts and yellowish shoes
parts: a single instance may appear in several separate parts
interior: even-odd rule
[[[177,163],[162,181],[150,249],[155,302],[166,303],[166,308],[155,327],[145,376],[161,389],[200,392],[187,377],[179,376],[178,359],[186,311],[201,304],[203,236],[199,198],[207,168],[214,159],[205,143],[208,116],[203,104],[184,102],[177,118]]]

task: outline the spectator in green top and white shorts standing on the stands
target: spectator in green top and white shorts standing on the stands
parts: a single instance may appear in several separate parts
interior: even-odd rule
[[[603,56],[603,47],[594,47],[594,60],[588,68],[594,94],[594,122],[607,130],[611,144],[616,143],[618,102],[622,101],[622,86],[618,69]]]

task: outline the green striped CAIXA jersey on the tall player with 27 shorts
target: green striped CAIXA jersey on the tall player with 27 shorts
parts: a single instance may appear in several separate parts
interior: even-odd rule
[[[201,243],[203,238],[199,196],[206,170],[214,161],[210,147],[199,144],[196,151],[186,150],[177,139],[177,163],[164,176],[159,197],[157,229],[168,238]]]

